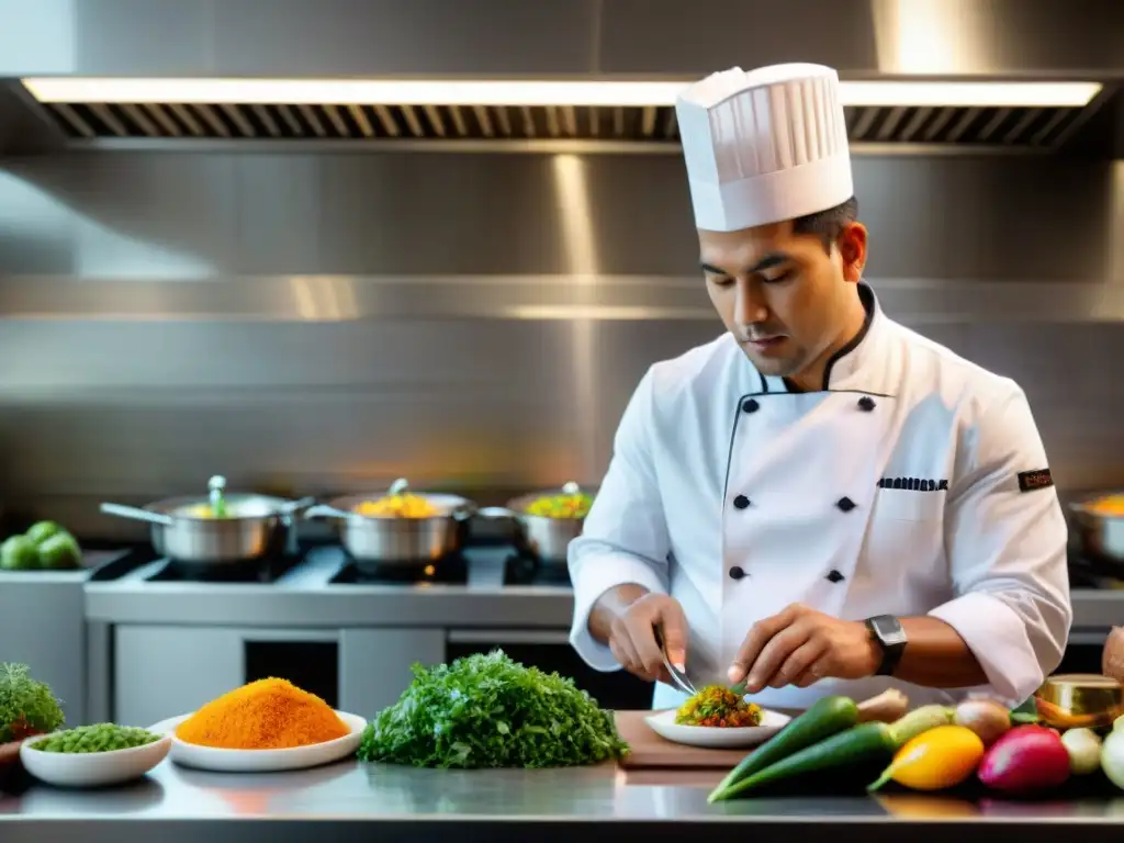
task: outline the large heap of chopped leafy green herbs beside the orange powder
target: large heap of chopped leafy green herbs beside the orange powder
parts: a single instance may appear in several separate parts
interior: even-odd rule
[[[578,767],[622,758],[613,713],[573,680],[502,651],[414,665],[401,698],[368,724],[359,758],[414,767]]]

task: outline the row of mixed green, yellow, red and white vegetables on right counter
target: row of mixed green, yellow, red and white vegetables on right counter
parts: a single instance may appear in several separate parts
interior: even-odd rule
[[[1098,769],[1124,789],[1124,716],[1102,741],[1088,728],[1062,734],[1026,723],[1025,716],[992,700],[923,706],[890,724],[861,723],[860,713],[847,697],[821,699],[750,753],[708,801],[869,763],[883,764],[870,791],[890,781],[912,790],[944,790],[975,776],[988,790],[1031,796]]]

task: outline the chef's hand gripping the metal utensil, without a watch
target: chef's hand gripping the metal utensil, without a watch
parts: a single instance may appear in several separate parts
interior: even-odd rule
[[[617,615],[609,627],[609,649],[625,670],[641,679],[671,683],[655,640],[660,627],[668,661],[682,669],[687,661],[687,617],[679,601],[649,593]]]

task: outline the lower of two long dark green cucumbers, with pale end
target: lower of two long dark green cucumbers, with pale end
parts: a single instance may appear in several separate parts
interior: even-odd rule
[[[761,785],[849,764],[888,763],[907,741],[922,732],[952,723],[953,710],[946,706],[922,706],[892,724],[874,720],[851,726],[726,787],[722,798],[728,799]]]

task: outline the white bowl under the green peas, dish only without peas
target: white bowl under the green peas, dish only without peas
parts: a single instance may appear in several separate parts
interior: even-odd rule
[[[109,752],[36,750],[34,744],[47,736],[36,735],[25,741],[19,747],[19,760],[31,776],[57,787],[97,788],[139,779],[163,761],[172,749],[172,740],[164,735],[144,746]]]

